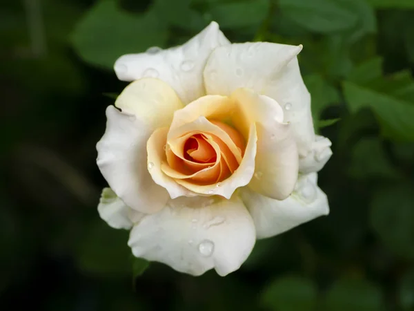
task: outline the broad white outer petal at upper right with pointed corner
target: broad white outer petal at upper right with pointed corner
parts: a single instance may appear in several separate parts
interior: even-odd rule
[[[299,154],[311,150],[315,132],[311,96],[300,74],[296,55],[302,46],[267,42],[221,46],[211,53],[204,69],[207,94],[230,95],[237,88],[253,88],[284,107],[284,121],[292,124]]]

